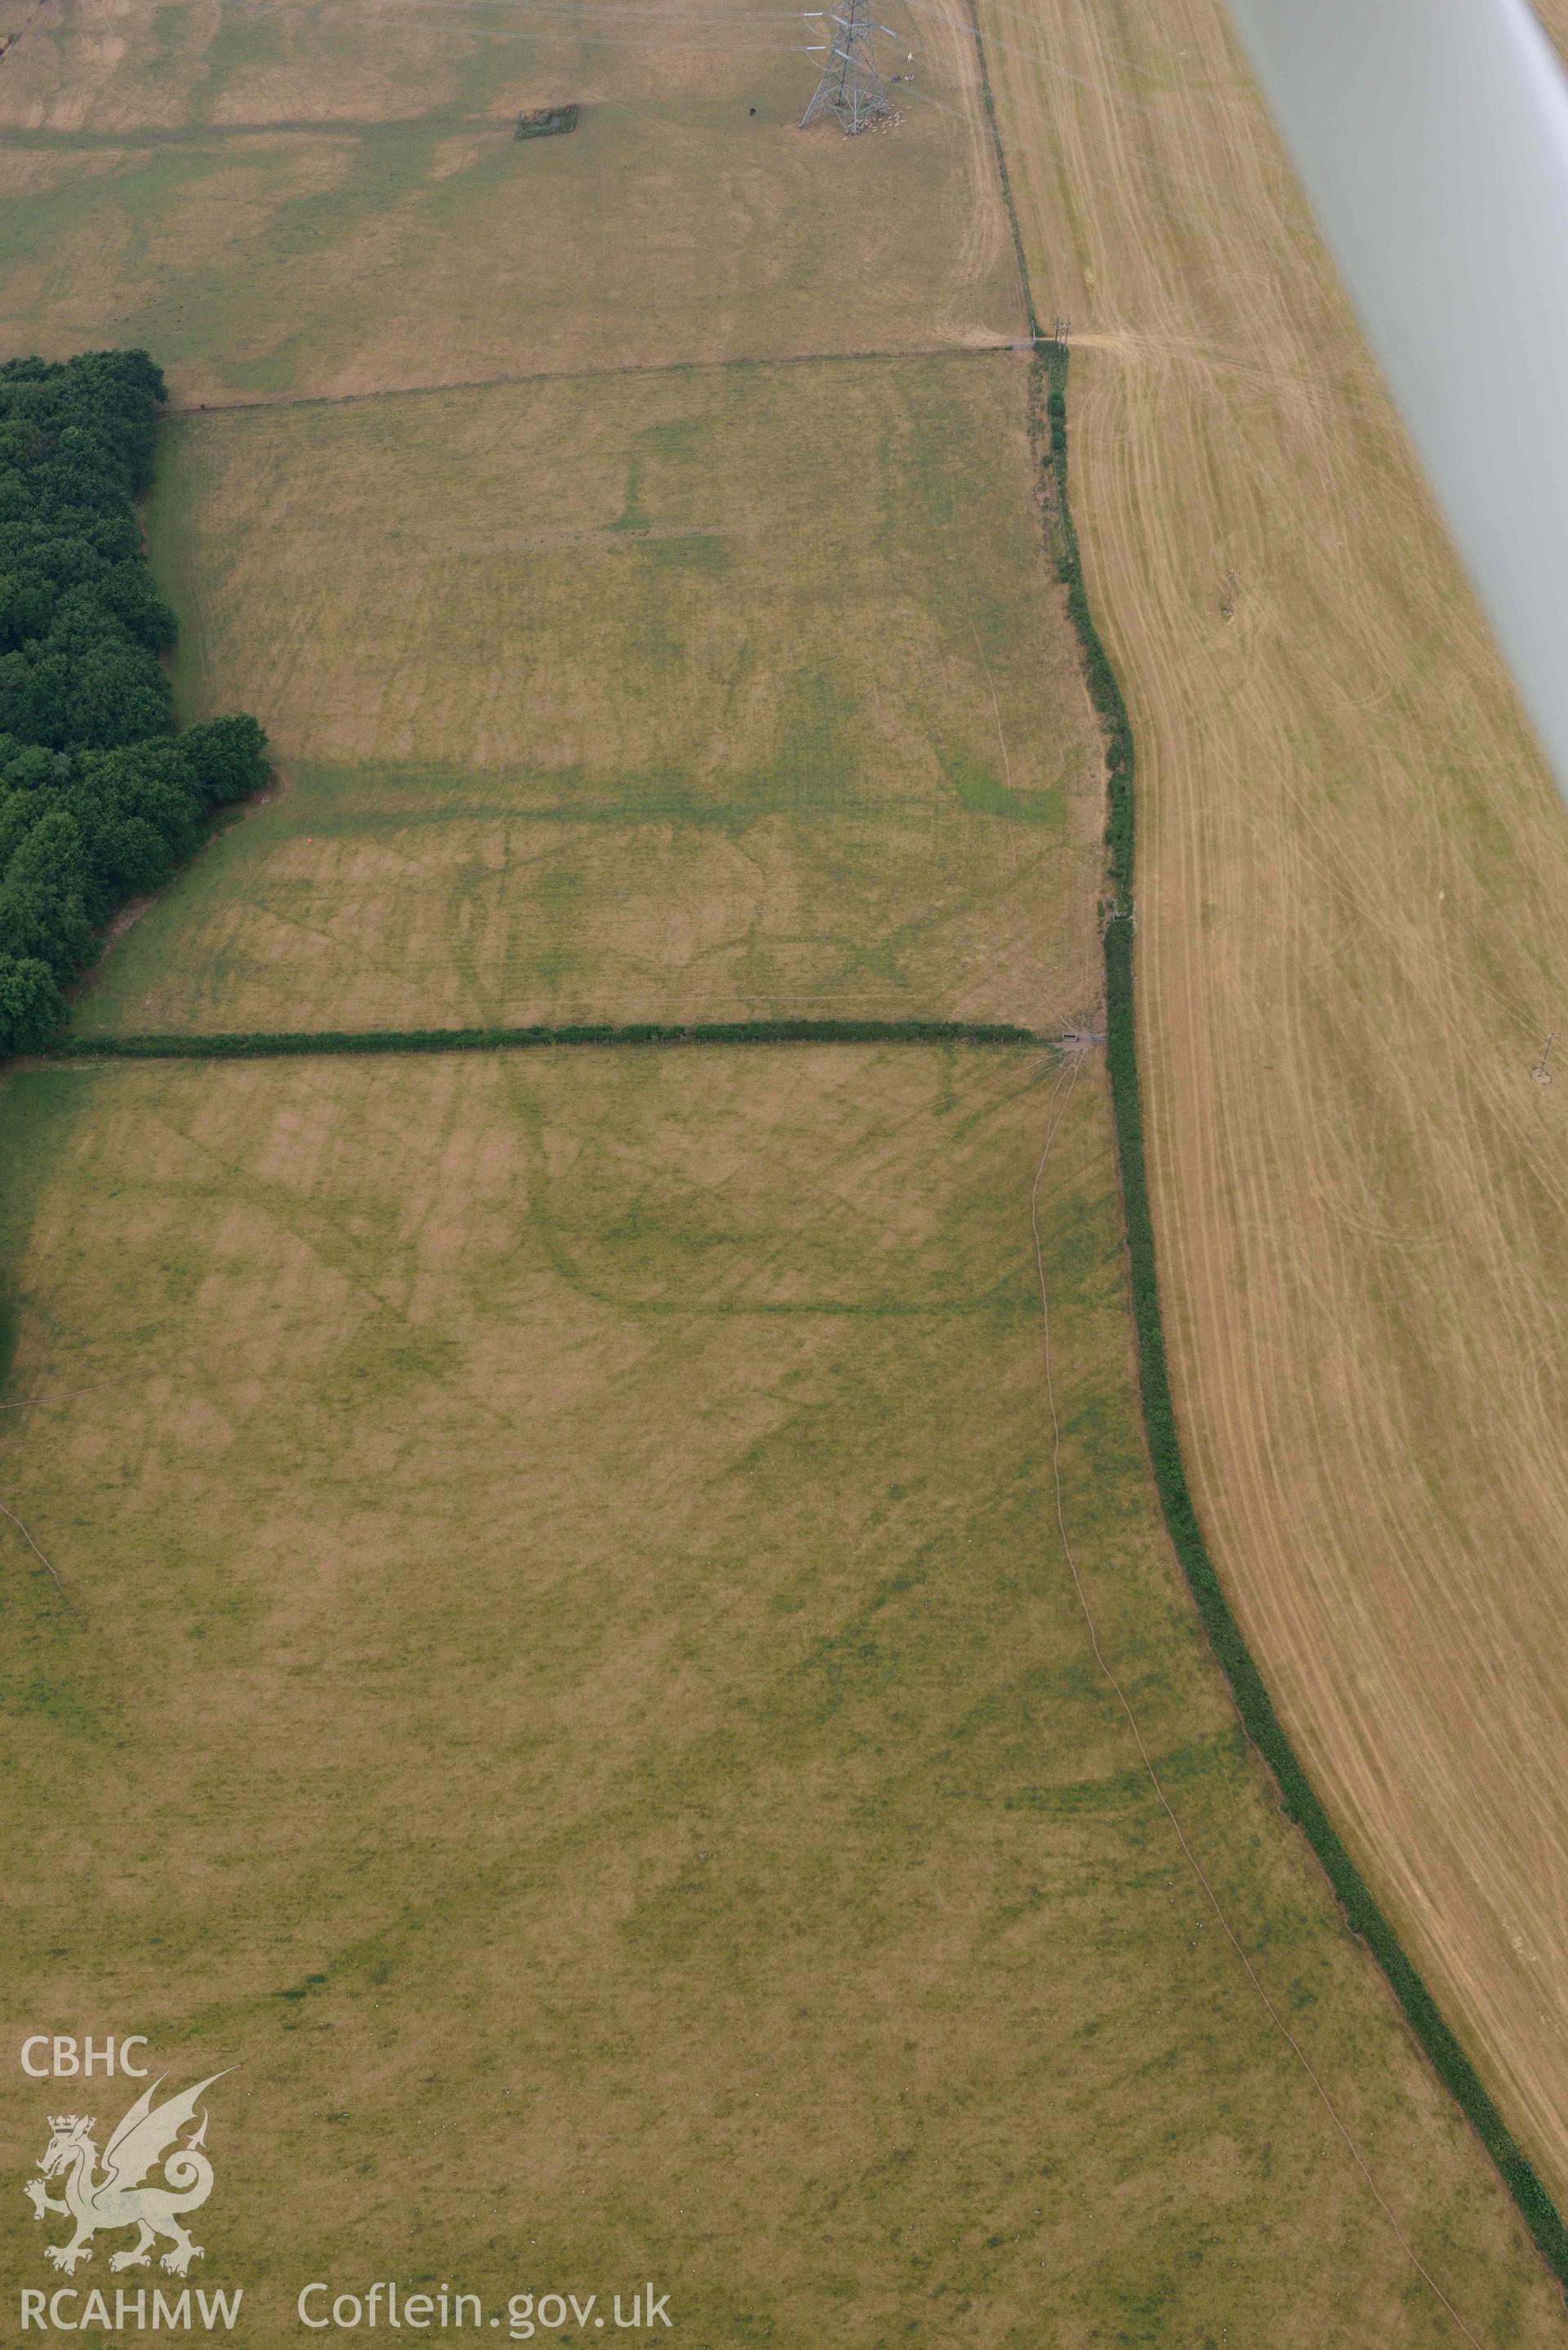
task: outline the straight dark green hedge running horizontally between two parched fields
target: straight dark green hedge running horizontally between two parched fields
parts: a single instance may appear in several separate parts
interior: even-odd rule
[[[292,1060],[322,1053],[527,1053],[541,1046],[1058,1043],[985,1020],[663,1020],[522,1029],[249,1029],[230,1036],[68,1036],[42,1060]]]

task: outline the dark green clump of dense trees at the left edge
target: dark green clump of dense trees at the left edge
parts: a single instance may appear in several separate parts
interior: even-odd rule
[[[35,1050],[125,898],[266,780],[252,717],[176,733],[134,501],[165,381],[143,350],[0,367],[0,1050]]]

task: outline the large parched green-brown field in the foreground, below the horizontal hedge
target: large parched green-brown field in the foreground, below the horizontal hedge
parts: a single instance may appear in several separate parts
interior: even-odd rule
[[[0,1492],[89,1617],[7,1532],[7,1981],[179,2075],[242,2061],[202,2282],[249,2341],[393,2272],[651,2275],[712,2345],[1455,2338],[1093,1668],[1030,1255],[1058,1074],[7,1083]],[[1100,1086],[1063,1104],[1107,1654],[1399,2225],[1479,2338],[1556,2341],[1220,1694],[1150,1509]],[[7,2092],[16,2171],[40,2113]]]

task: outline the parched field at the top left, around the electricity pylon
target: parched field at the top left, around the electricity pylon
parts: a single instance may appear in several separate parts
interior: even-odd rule
[[[759,0],[103,16],[0,66],[9,348],[146,343],[202,402],[1023,334],[954,31],[867,143],[797,132],[818,61]]]

